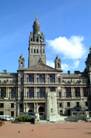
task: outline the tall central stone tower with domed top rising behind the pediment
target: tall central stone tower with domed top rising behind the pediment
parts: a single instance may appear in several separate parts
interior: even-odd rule
[[[44,34],[40,31],[40,24],[36,18],[33,23],[33,32],[30,32],[28,47],[28,67],[38,64],[39,60],[46,64]]]

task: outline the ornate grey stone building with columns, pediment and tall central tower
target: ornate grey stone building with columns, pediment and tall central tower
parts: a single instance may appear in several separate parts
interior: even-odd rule
[[[53,110],[68,116],[72,111],[91,110],[91,48],[84,71],[73,74],[62,71],[59,57],[55,58],[55,68],[48,66],[45,48],[44,34],[35,19],[29,36],[28,67],[21,55],[16,73],[0,72],[0,115],[38,112],[40,119],[47,119]]]

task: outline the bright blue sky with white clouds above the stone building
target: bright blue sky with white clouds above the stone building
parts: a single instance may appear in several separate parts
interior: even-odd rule
[[[47,63],[53,66],[58,55],[64,72],[83,71],[91,46],[91,0],[0,0],[0,71],[16,72],[20,54],[27,67],[35,17],[45,34]]]

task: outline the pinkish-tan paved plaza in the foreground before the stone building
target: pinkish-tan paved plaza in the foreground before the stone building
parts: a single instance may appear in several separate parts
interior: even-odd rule
[[[91,138],[91,123],[10,123],[0,127],[0,138]]]

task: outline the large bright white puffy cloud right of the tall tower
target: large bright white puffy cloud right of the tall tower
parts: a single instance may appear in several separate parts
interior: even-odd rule
[[[47,43],[56,53],[63,54],[65,58],[78,60],[85,54],[83,40],[82,36],[71,36],[70,38],[60,36],[53,40],[47,40]]]

